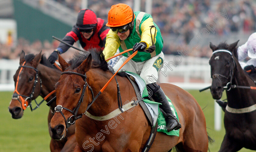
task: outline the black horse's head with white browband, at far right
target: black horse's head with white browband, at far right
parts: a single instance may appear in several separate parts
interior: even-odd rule
[[[239,40],[238,40],[239,41]],[[211,93],[213,99],[219,100],[224,89],[229,90],[236,71],[238,41],[228,45],[226,42],[218,46],[210,42],[212,57],[209,60],[211,66],[212,86]]]

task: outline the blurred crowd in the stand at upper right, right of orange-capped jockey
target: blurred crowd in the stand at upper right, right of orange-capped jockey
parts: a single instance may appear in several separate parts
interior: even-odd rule
[[[255,1],[210,1],[210,0],[155,0],[152,11],[153,20],[161,29],[162,35],[172,35],[177,39],[174,43],[165,45],[166,54],[175,54],[176,50],[189,45],[191,39],[203,28],[206,28],[216,15],[220,17],[215,24],[215,33],[210,35],[227,36],[231,32],[253,33],[256,29],[256,2]],[[226,19],[220,15],[224,10]],[[222,19],[222,20],[221,20]],[[209,44],[209,43],[207,43]],[[193,55],[209,57],[207,46],[202,46]],[[192,55],[192,54],[191,54]]]

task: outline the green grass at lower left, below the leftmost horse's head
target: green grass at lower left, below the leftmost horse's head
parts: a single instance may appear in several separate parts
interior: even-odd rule
[[[12,92],[0,92],[0,152],[50,151],[46,102],[33,112],[27,108],[22,118],[12,119],[8,111],[11,98]]]

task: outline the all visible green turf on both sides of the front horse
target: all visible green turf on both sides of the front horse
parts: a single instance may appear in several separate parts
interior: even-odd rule
[[[219,150],[222,139],[225,134],[223,126],[222,113],[222,129],[214,130],[214,100],[209,90],[199,93],[198,90],[189,91],[204,108],[206,117],[207,131],[215,142],[209,145],[211,152]],[[49,108],[46,102],[39,109],[31,112],[30,109],[24,111],[21,119],[12,119],[8,106],[11,101],[12,92],[0,92],[0,152],[47,152],[50,151],[50,136],[48,132],[47,116]],[[223,97],[226,96],[225,94]],[[37,101],[41,101],[37,99]],[[34,102],[34,101],[33,101]],[[240,152],[251,152],[243,148]]]

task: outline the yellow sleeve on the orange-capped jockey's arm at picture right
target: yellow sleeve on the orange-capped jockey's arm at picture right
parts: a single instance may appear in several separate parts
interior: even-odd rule
[[[148,49],[149,46],[152,46],[152,40],[151,40],[151,34],[150,34],[150,28],[151,28],[150,26],[151,25],[154,25],[153,19],[148,18],[140,26],[140,29],[141,29],[140,42],[145,42],[147,44],[146,49]],[[153,40],[157,33],[157,30],[156,30],[156,32],[155,32],[155,30],[156,30],[155,28],[151,29]],[[156,39],[155,39],[155,41],[156,41]]]

